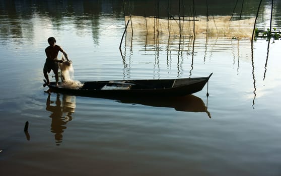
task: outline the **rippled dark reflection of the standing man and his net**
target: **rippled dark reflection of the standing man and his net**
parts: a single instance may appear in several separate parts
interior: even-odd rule
[[[64,129],[66,129],[65,125],[68,121],[72,120],[72,113],[75,110],[75,103],[67,101],[67,96],[63,96],[62,103],[60,101],[60,96],[57,94],[55,106],[52,106],[54,102],[50,100],[50,95],[48,95],[46,102],[46,110],[52,112],[50,118],[52,118],[51,122],[51,132],[55,133],[55,141],[56,144],[62,142],[62,133]],[[71,97],[71,96],[68,96]],[[64,106],[66,105],[66,106]],[[73,108],[74,107],[74,108]],[[66,113],[66,116],[63,117],[63,113]]]

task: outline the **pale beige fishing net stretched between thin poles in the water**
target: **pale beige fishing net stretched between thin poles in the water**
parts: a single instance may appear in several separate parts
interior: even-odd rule
[[[179,18],[154,18],[142,16],[126,16],[126,22],[131,20],[127,31],[133,33],[167,33],[172,35],[193,36],[206,34],[209,36],[251,37],[255,18],[231,21],[231,16]]]

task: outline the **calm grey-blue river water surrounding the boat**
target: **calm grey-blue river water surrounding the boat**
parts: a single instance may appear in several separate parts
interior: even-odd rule
[[[123,1],[0,2],[1,175],[281,174],[280,40],[258,38],[251,47],[248,38],[196,36],[193,43],[127,34],[120,51]],[[243,17],[255,16],[257,3]],[[262,30],[269,27],[270,3],[262,3]],[[274,3],[272,22],[279,30],[281,2]],[[222,15],[231,15],[233,6]],[[209,97],[207,86],[175,99],[45,93],[50,36],[73,61],[77,80],[213,72]]]

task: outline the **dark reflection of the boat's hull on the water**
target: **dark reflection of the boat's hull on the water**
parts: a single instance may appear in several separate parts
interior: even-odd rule
[[[208,117],[211,118],[210,113],[207,111],[207,107],[205,106],[202,99],[193,95],[182,97],[159,97],[157,99],[150,99],[148,97],[139,97],[137,99],[130,97],[119,97],[112,99],[120,103],[174,108],[176,111],[206,112]]]

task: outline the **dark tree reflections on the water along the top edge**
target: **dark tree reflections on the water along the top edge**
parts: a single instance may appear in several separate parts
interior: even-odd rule
[[[123,6],[125,2],[125,6]],[[130,9],[128,9],[127,3],[130,3]],[[106,20],[106,16],[102,14],[110,14],[116,18],[123,18],[125,15],[131,12],[132,15],[137,16],[167,16],[167,7],[169,3],[169,14],[177,16],[180,12],[185,12],[185,16],[190,16],[190,12],[193,5],[193,0],[185,0],[181,3],[181,8],[178,7],[178,1],[164,0],[160,1],[159,13],[156,15],[155,9],[157,4],[155,1],[76,1],[76,0],[63,0],[63,1],[16,1],[16,0],[0,0],[0,36],[2,39],[7,40],[9,38],[27,40],[33,38],[33,18],[48,17],[48,20],[52,22],[52,25],[56,28],[60,28],[65,24],[68,17],[71,19],[71,23],[76,29],[83,33],[83,29],[92,28],[92,35],[94,42],[98,42],[99,28],[101,20]],[[234,12],[236,1],[222,1],[214,0],[208,2],[209,15],[231,15]],[[255,16],[258,1],[245,0],[243,6],[242,15],[245,17]],[[123,7],[125,9],[123,10]],[[195,2],[195,13],[197,16],[206,14],[205,0],[198,0]],[[240,14],[242,4],[239,1],[235,8],[234,14],[236,16]],[[268,7],[268,3],[262,3],[261,9],[264,9],[263,16],[261,16],[261,23],[264,22],[265,11]],[[185,8],[185,10],[183,10]],[[144,11],[145,9],[145,11]],[[278,18],[277,14],[280,14],[281,2],[274,2],[274,14],[273,18]],[[183,14],[180,15],[183,15]],[[67,17],[67,18],[65,18]],[[43,19],[44,20],[44,19]],[[273,20],[274,21],[274,20]],[[44,22],[44,21],[43,21]],[[280,26],[280,21],[275,20],[274,26]],[[16,41],[17,41],[16,40]]]

